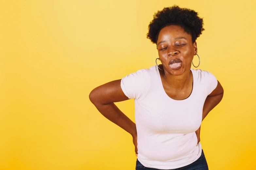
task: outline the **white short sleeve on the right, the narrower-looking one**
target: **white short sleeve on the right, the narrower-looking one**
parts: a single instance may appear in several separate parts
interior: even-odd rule
[[[203,73],[204,73],[204,80],[205,80],[204,81],[205,88],[207,91],[207,95],[209,95],[217,87],[218,81],[217,81],[217,78],[215,78],[215,76],[209,71],[204,70]]]

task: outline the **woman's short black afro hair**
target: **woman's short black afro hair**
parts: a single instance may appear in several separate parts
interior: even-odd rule
[[[177,5],[172,7],[164,7],[161,11],[157,11],[153,15],[153,20],[148,25],[147,38],[154,44],[160,30],[168,25],[179,25],[184,31],[191,35],[192,43],[202,34],[203,18],[198,17],[198,13],[192,9],[180,8]]]

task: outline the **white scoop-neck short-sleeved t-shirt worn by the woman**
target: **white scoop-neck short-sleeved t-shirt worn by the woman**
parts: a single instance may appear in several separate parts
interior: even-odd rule
[[[202,153],[195,131],[202,122],[205,99],[216,88],[217,79],[208,71],[190,70],[193,90],[184,100],[166,94],[157,65],[121,79],[123,92],[134,99],[138,160],[145,167],[180,168],[195,162]]]

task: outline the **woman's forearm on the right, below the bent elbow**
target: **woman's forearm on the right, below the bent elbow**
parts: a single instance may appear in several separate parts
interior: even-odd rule
[[[202,121],[208,115],[208,113],[220,103],[220,101],[222,100],[222,97],[223,97],[223,93],[220,93],[214,96],[207,96],[203,106]]]

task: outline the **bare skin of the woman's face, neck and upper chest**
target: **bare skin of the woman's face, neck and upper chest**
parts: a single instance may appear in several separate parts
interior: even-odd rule
[[[175,39],[184,37],[186,39]],[[164,42],[163,42],[164,41]],[[190,96],[193,85],[193,75],[190,71],[194,55],[197,53],[196,42],[192,43],[190,34],[184,32],[180,26],[170,25],[162,28],[157,40],[160,76],[166,94],[174,100],[183,100]],[[173,70],[169,62],[179,59],[181,68]]]

